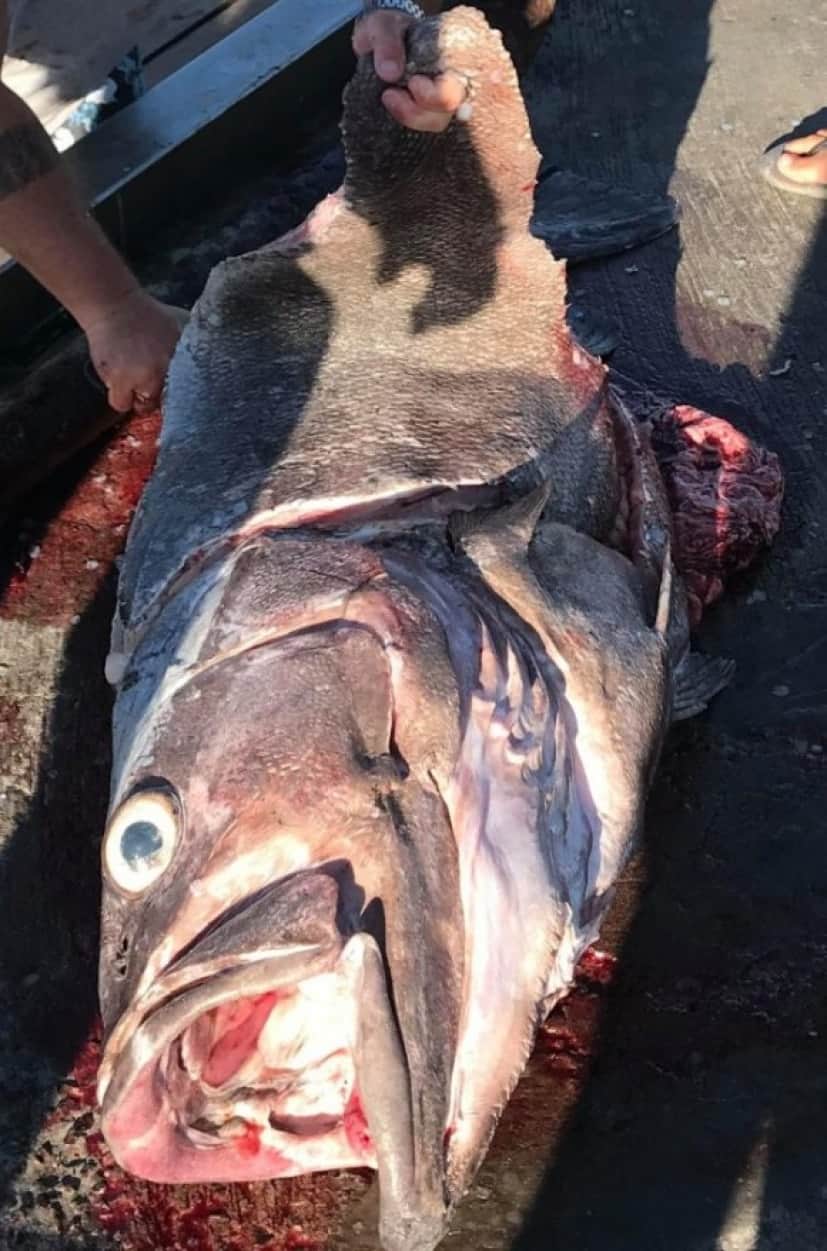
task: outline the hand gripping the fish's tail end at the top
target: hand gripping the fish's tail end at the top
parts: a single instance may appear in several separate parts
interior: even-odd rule
[[[398,83],[405,69],[405,30],[413,18],[392,9],[374,9],[357,21],[353,50],[357,56],[373,53],[377,75],[384,83]],[[439,134],[450,124],[465,99],[465,84],[457,74],[435,79],[414,74],[405,86],[390,86],[382,103],[402,126]]]

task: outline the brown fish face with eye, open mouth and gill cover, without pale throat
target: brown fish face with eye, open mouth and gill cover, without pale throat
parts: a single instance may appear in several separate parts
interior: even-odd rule
[[[103,1131],[164,1182],[375,1167],[385,1245],[433,1246],[463,967],[444,644],[348,544],[230,563],[121,682]]]

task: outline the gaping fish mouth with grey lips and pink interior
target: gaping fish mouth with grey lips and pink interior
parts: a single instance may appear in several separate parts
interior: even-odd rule
[[[312,899],[317,921],[322,908],[327,932],[285,933],[285,894],[305,909]],[[101,1128],[121,1167],[173,1183],[377,1168],[377,1140],[395,1167],[412,1165],[409,1082],[382,953],[370,934],[338,931],[334,894],[333,879],[314,872],[261,892],[179,955],[151,1002],[125,1013],[99,1080]],[[382,1073],[373,1101],[365,1070]]]

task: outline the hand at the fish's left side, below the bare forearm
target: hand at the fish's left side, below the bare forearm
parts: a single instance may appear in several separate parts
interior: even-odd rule
[[[158,408],[185,322],[183,309],[138,289],[84,323],[91,363],[116,413]]]

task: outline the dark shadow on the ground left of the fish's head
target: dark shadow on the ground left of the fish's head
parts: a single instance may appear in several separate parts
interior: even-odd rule
[[[49,1167],[39,1172],[35,1190],[24,1181],[15,1193],[13,1182],[96,1012],[98,836],[106,809],[110,713],[100,657],[113,603],[111,584],[105,584],[68,637],[36,791],[21,804],[0,859],[6,990],[0,1202],[5,1207],[14,1196],[23,1213],[56,1198],[50,1191],[58,1178],[50,1180]]]

